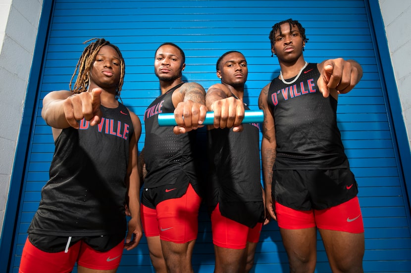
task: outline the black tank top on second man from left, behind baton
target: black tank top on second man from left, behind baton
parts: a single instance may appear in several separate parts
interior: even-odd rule
[[[146,140],[144,160],[147,176],[144,187],[154,188],[173,184],[180,176],[185,176],[195,185],[198,183],[195,149],[196,130],[186,134],[175,135],[172,126],[159,126],[159,113],[173,113],[173,92],[184,83],[175,86],[157,97],[144,114]],[[181,179],[181,177],[180,177]]]

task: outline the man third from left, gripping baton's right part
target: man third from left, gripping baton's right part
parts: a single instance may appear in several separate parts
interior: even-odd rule
[[[214,112],[208,129],[209,181],[215,273],[248,273],[254,265],[264,222],[260,183],[259,124],[243,124],[244,85],[248,68],[244,55],[228,51],[217,61],[221,84],[211,86],[205,105]],[[231,129],[233,127],[233,129]]]

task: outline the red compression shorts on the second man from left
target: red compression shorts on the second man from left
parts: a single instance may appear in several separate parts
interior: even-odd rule
[[[201,198],[188,185],[179,198],[161,201],[155,209],[141,205],[141,222],[147,237],[160,236],[161,240],[187,243],[197,239]]]

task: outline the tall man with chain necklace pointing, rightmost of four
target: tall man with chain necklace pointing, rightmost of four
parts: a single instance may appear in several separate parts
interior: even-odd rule
[[[270,33],[280,64],[265,86],[261,141],[266,209],[277,220],[291,272],[314,272],[316,228],[333,272],[362,272],[364,228],[337,127],[337,98],[362,77],[360,65],[343,59],[307,63],[305,29],[292,19]]]

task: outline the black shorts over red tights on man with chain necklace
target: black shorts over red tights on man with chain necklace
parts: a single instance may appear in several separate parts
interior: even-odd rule
[[[334,207],[358,193],[350,169],[274,170],[271,189],[273,200],[304,211]]]

